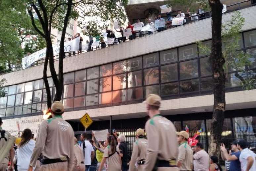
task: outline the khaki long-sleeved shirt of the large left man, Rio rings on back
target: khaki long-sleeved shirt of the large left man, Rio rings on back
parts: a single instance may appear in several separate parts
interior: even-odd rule
[[[44,158],[68,158],[68,170],[72,170],[74,160],[74,131],[72,126],[61,116],[42,121],[39,126],[37,140],[30,160],[35,167],[42,153]]]

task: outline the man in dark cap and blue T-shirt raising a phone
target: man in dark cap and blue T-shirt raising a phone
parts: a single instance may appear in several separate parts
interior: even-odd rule
[[[227,149],[225,148],[225,145],[221,144],[221,156],[223,160],[230,161],[229,165],[229,171],[241,171],[241,163],[239,161],[239,157],[241,154],[241,151],[237,147],[238,141],[233,141],[231,144],[231,150],[233,151],[231,155],[228,154]]]

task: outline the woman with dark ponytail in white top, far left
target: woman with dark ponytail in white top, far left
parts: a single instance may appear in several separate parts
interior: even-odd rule
[[[30,129],[25,129],[21,135],[21,142],[18,145],[17,151],[17,166],[18,171],[27,171],[30,158],[35,147],[35,141],[32,139]]]

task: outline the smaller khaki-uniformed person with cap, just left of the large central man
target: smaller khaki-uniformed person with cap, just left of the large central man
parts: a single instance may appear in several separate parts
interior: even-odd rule
[[[132,157],[130,161],[129,171],[134,171],[135,163],[137,163],[137,171],[144,169],[144,163],[147,153],[148,140],[144,138],[144,130],[139,128],[136,131],[136,141],[133,143]]]

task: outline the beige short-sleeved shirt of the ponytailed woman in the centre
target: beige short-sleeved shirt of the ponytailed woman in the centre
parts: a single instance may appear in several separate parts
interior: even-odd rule
[[[116,147],[117,152],[120,154],[120,150]],[[112,156],[108,157],[109,154],[112,154],[111,147],[107,146],[104,149],[103,157],[107,158],[107,170],[109,171],[121,171],[121,158],[118,153],[113,154]]]

